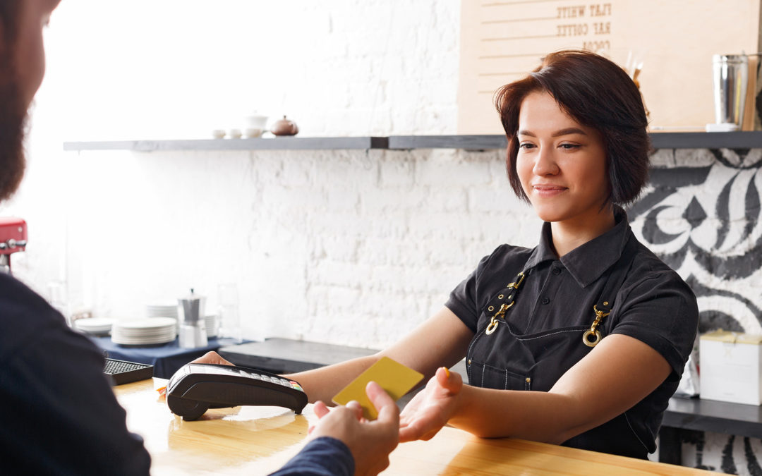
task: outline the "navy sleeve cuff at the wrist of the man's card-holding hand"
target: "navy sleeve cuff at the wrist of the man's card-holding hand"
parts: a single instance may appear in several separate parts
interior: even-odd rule
[[[307,443],[283,468],[271,476],[351,476],[354,458],[344,442],[321,436]]]

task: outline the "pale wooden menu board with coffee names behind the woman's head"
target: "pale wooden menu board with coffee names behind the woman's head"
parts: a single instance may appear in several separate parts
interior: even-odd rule
[[[759,43],[760,0],[462,0],[458,133],[503,133],[495,90],[563,49],[642,64],[652,131],[703,130],[714,122],[712,55]]]

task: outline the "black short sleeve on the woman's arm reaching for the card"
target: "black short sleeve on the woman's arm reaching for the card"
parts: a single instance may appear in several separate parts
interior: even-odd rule
[[[612,334],[625,334],[652,347],[680,379],[698,331],[696,296],[672,270],[651,273],[630,289]]]

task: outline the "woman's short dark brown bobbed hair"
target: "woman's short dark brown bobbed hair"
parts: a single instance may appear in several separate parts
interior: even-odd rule
[[[648,181],[651,142],[648,120],[638,87],[616,63],[586,51],[551,53],[527,77],[504,85],[495,94],[508,139],[506,169],[514,193],[528,201],[516,172],[519,110],[528,94],[547,91],[559,106],[583,126],[603,136],[610,203],[636,200]]]

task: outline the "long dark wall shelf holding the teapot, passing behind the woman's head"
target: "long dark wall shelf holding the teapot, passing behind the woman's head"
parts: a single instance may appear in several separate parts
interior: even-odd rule
[[[762,131],[736,133],[651,133],[654,149],[762,148]],[[64,142],[65,151],[132,150],[347,150],[347,149],[503,149],[505,136],[274,137],[266,139],[188,139]]]

